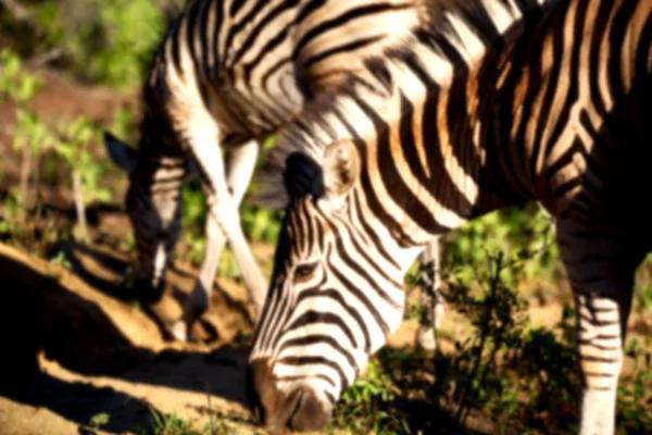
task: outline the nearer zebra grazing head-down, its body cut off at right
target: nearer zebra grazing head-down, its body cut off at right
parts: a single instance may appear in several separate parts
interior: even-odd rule
[[[402,278],[432,237],[537,201],[573,288],[579,433],[613,434],[652,248],[634,192],[652,161],[652,1],[428,5],[428,25],[284,126],[259,172],[287,208],[250,407],[269,431],[323,430],[401,322]]]

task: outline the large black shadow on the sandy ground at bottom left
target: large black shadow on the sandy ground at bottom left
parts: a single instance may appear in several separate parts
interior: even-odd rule
[[[7,337],[0,395],[47,407],[78,424],[106,412],[117,417],[103,427],[111,432],[148,426],[148,403],[113,388],[67,383],[42,373],[38,355],[45,352],[48,360],[77,374],[210,393],[246,405],[242,385],[248,348],[153,352],[131,345],[97,303],[63,287],[53,276],[3,256],[0,276],[0,322]]]

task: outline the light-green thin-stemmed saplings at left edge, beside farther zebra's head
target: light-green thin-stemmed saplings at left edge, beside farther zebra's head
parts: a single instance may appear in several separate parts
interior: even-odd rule
[[[86,203],[89,200],[108,200],[109,191],[99,185],[102,166],[92,157],[89,145],[97,139],[97,128],[90,121],[80,116],[71,124],[60,123],[55,128],[41,121],[27,109],[27,103],[40,89],[41,82],[24,71],[21,60],[9,50],[0,52],[0,98],[10,99],[16,107],[16,125],[13,148],[22,156],[20,182],[9,189],[4,201],[4,219],[8,229],[16,229],[43,239],[45,243],[65,232],[61,224],[55,225],[43,217],[40,200],[40,169],[47,152],[63,161],[72,175],[75,206],[77,210],[78,235],[88,237]],[[29,220],[27,216],[29,214]],[[27,224],[26,224],[27,223]],[[42,225],[46,227],[42,227]],[[28,227],[34,227],[29,229]],[[21,236],[27,238],[28,236]]]

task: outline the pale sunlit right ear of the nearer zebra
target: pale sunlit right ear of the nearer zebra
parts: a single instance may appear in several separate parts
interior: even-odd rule
[[[331,199],[342,198],[360,176],[360,156],[350,139],[330,144],[324,152],[324,187]]]

